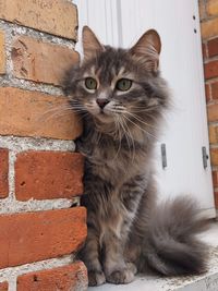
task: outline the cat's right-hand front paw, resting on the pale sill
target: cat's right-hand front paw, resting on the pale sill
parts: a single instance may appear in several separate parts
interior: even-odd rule
[[[130,268],[124,268],[121,270],[114,270],[109,276],[107,276],[107,282],[114,284],[130,283],[134,280],[134,271]]]

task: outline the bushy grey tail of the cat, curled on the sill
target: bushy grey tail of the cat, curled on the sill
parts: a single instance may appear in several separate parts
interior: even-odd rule
[[[167,276],[206,271],[208,246],[196,237],[207,228],[208,220],[187,197],[157,206],[145,241],[148,266]]]

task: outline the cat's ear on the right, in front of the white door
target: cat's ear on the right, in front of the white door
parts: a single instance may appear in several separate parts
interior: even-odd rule
[[[130,49],[131,53],[138,57],[148,71],[157,71],[161,41],[155,29],[147,31]]]

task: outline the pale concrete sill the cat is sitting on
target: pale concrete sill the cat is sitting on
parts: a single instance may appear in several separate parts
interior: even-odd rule
[[[132,283],[114,286],[104,284],[88,288],[88,291],[218,291],[218,222],[202,238],[210,245],[209,270],[202,276],[158,278],[138,276]]]

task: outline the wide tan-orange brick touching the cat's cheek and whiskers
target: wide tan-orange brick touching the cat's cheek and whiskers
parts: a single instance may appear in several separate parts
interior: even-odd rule
[[[0,87],[0,134],[74,140],[82,132],[65,97]]]

